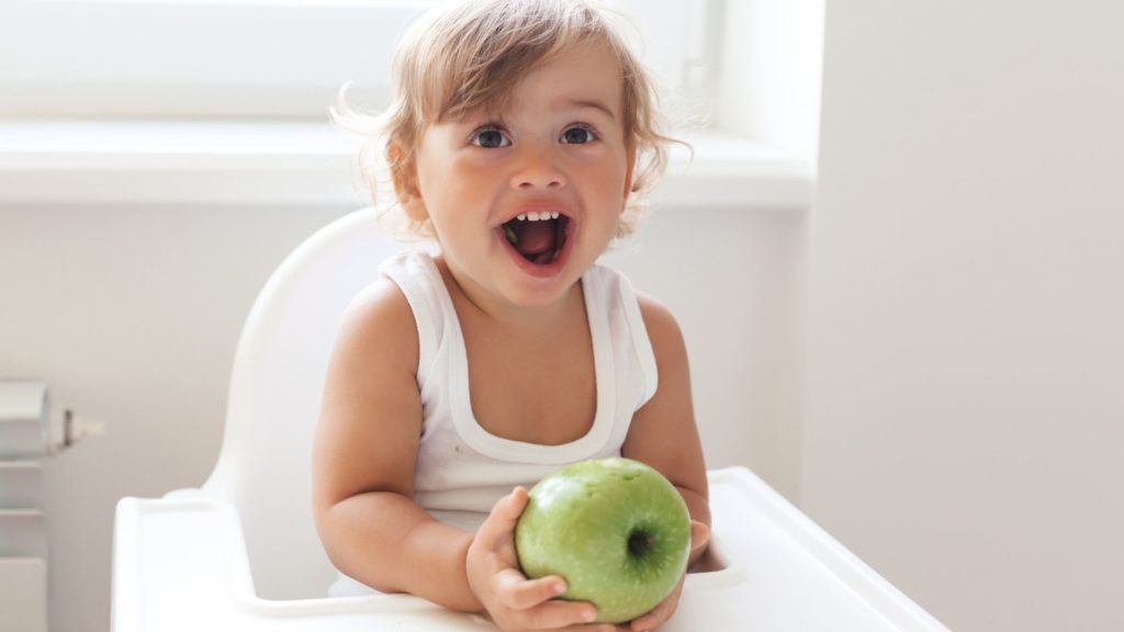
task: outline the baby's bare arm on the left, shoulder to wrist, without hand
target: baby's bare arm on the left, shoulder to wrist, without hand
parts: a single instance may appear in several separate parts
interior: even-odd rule
[[[324,389],[312,453],[312,507],[332,562],[386,593],[479,611],[465,556],[472,534],[414,500],[422,431],[417,328],[388,280],[348,308]]]

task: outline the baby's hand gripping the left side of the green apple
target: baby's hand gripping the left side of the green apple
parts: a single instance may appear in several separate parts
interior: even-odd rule
[[[565,592],[565,580],[556,575],[527,579],[519,572],[515,552],[515,524],[527,506],[527,490],[516,487],[501,498],[480,525],[465,570],[469,587],[500,630],[616,630],[614,625],[589,624],[597,611],[588,602],[556,601]]]

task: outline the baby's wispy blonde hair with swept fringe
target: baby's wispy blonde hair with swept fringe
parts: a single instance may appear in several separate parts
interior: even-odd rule
[[[617,57],[624,81],[624,133],[636,148],[632,195],[617,227],[633,231],[646,195],[667,169],[667,145],[658,98],[643,67],[606,10],[584,0],[466,0],[430,11],[407,29],[395,54],[390,107],[374,119],[346,102],[345,85],[332,115],[337,124],[375,132],[391,179],[411,186],[411,168],[426,126],[478,109],[502,110],[516,83],[573,46],[600,44]],[[378,202],[378,169],[371,143],[361,169]],[[382,219],[399,236],[433,236],[428,222],[406,217],[399,205],[382,207]]]

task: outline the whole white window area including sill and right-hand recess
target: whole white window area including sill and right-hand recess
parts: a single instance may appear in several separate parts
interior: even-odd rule
[[[363,204],[328,107],[348,81],[386,102],[401,29],[442,1],[0,0],[0,202]],[[694,161],[672,153],[662,201],[807,206],[824,0],[606,3],[708,124],[677,134]]]

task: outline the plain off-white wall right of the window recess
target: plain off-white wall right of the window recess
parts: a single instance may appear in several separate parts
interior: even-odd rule
[[[1124,630],[1121,24],[827,11],[803,506],[953,630]]]

